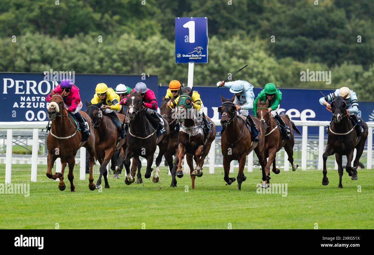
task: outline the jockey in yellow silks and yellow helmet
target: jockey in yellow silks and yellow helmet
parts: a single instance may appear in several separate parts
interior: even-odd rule
[[[119,96],[114,92],[113,88],[108,88],[105,83],[99,83],[96,85],[95,95],[93,95],[93,98],[91,99],[91,104],[97,104],[101,101],[104,101],[101,105],[102,111],[112,117],[111,119],[114,124],[116,124],[120,133],[119,138],[124,138],[125,132],[123,131],[122,123],[117,116],[117,113],[121,110]]]

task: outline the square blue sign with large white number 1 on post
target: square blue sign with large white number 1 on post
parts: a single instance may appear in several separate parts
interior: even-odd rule
[[[175,63],[208,63],[208,19],[175,18]]]

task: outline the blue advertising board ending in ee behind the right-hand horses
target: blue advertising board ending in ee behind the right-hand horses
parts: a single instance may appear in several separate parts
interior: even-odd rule
[[[159,96],[157,101],[162,100],[162,96],[166,93],[166,86],[159,87]],[[325,95],[334,92],[334,89],[289,89],[280,88],[282,92],[282,102],[278,113],[288,114],[292,120],[303,121],[331,121],[331,113],[326,110],[326,106],[319,104],[319,98],[322,97],[319,91]],[[221,95],[224,98],[232,98],[233,94],[226,88],[216,88],[208,86],[195,86],[195,91],[198,91],[201,100],[204,104],[204,112],[212,119],[221,119],[217,112],[218,107],[221,106]],[[254,88],[255,97],[262,88]],[[358,95],[359,98],[359,95]],[[249,111],[250,114],[253,114]],[[374,121],[374,102],[359,102],[358,115],[364,121]],[[217,131],[221,130],[221,126],[217,126]],[[301,128],[300,128],[301,131]],[[308,134],[318,134],[318,127],[309,127]]]

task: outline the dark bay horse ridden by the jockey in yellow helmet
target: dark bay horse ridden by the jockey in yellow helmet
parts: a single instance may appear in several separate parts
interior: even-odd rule
[[[90,104],[86,101],[86,112],[93,123],[93,130],[96,138],[95,156],[100,163],[100,175],[96,182],[96,188],[100,187],[102,176],[104,176],[104,187],[110,188],[107,178],[107,165],[114,155],[119,136],[119,132],[114,122],[108,115],[104,114],[100,108],[103,103],[104,101],[97,104]],[[120,118],[120,121],[123,122],[125,115],[117,113],[117,116]],[[124,142],[124,139],[121,139],[120,143],[123,144]],[[121,144],[118,146],[119,148],[121,147]]]

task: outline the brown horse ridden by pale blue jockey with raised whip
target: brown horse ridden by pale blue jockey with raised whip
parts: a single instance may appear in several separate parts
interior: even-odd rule
[[[264,145],[265,145],[265,131],[261,122],[252,116],[249,116],[255,122],[258,128],[258,142],[252,140],[252,134],[246,127],[246,118],[242,115],[237,115],[236,107],[233,103],[235,95],[232,99],[226,99],[221,96],[222,106],[218,108],[218,112],[221,113],[221,125],[225,129],[221,139],[221,150],[223,155],[223,168],[225,171],[224,180],[228,185],[231,185],[235,181],[235,178],[229,178],[230,163],[233,160],[239,162],[239,172],[237,174],[237,184],[239,190],[242,187],[247,177],[244,175],[243,170],[245,166],[246,156],[255,151],[258,161],[261,165],[262,180],[267,180],[265,173],[265,157],[264,157]]]

